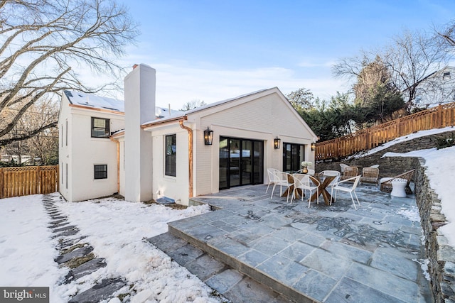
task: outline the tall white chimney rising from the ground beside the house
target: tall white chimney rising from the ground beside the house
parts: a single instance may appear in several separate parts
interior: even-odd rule
[[[149,201],[152,193],[151,133],[141,124],[155,119],[156,70],[135,65],[124,79],[125,200]]]

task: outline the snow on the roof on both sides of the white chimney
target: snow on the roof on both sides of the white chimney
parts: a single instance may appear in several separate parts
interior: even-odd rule
[[[87,108],[93,109],[107,109],[109,111],[119,111],[124,113],[124,101],[119,99],[113,99],[108,97],[100,97],[96,94],[86,94],[83,92],[75,92],[65,90],[65,95],[70,100],[71,104],[87,106]],[[167,117],[171,114],[181,114],[183,111],[176,111],[171,109],[166,109],[166,107],[155,106],[155,116],[156,119]]]

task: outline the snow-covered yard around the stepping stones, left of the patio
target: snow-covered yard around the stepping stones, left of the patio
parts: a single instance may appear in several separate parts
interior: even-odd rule
[[[208,206],[176,210],[166,206],[115,199],[56,204],[77,236],[90,243],[107,266],[68,285],[58,285],[68,268],[58,268],[56,239],[47,227],[41,195],[0,199],[0,285],[49,286],[50,302],[68,302],[71,295],[109,277],[124,277],[128,285],[117,293],[131,292],[131,302],[218,302],[212,290],[186,268],[144,241],[167,231],[166,223],[209,211]],[[74,237],[77,237],[74,236]],[[112,299],[111,303],[119,302]]]

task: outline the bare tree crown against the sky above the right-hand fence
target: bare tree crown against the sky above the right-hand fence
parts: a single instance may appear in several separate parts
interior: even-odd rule
[[[363,67],[379,57],[390,73],[390,84],[402,92],[406,109],[410,111],[417,94],[424,94],[427,89],[434,90],[437,82],[425,80],[447,65],[449,55],[437,35],[405,31],[382,50],[363,50],[360,57],[340,60],[333,67],[333,74],[337,77],[359,77]]]

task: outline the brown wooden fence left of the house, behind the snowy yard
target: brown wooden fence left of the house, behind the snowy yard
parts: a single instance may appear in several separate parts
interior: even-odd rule
[[[0,168],[0,199],[58,192],[58,165]]]

